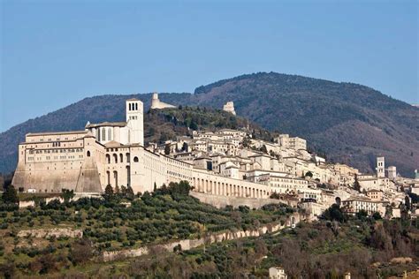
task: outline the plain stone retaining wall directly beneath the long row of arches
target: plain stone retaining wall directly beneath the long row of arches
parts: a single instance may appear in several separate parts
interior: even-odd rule
[[[286,203],[285,200],[276,200],[276,199],[258,199],[258,198],[243,198],[243,197],[227,197],[227,196],[219,196],[219,195],[212,195],[208,193],[202,192],[190,192],[189,193],[194,198],[200,200],[203,203],[208,203],[213,207],[223,208],[225,206],[232,206],[232,207],[239,207],[239,206],[248,206],[249,208],[260,208],[264,205],[275,203]],[[288,204],[290,206],[294,206],[292,204]],[[296,206],[296,205],[295,205]]]

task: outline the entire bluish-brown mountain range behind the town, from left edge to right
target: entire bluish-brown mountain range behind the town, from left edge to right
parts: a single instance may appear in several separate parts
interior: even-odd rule
[[[27,132],[83,129],[87,121],[124,119],[125,100],[149,108],[151,94],[102,95],[84,99],[0,133],[0,171],[14,169],[17,145]],[[362,85],[275,72],[260,72],[197,87],[194,94],[159,94],[162,101],[220,109],[233,101],[238,116],[270,131],[308,139],[309,147],[362,171],[375,157],[411,177],[419,168],[419,109]],[[145,123],[147,125],[147,122]],[[146,131],[147,132],[147,131]]]

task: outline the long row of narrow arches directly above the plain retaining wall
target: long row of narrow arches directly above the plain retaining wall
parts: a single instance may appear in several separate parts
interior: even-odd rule
[[[195,177],[194,187],[195,191],[197,192],[204,192],[221,196],[266,198],[270,194],[266,190],[258,189],[251,186],[235,185]]]

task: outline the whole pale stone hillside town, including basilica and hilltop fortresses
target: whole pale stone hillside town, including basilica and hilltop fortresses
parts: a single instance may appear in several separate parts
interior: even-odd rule
[[[175,109],[152,95],[150,109]],[[223,109],[235,114],[233,102]],[[415,179],[400,177],[396,166],[377,157],[374,174],[343,163],[327,162],[310,153],[306,139],[278,134],[257,139],[248,129],[196,130],[163,144],[143,137],[143,104],[126,101],[126,122],[88,122],[83,131],[28,133],[19,145],[13,185],[21,192],[61,192],[83,195],[107,185],[153,192],[162,185],[187,180],[200,192],[234,199],[280,200],[300,207],[315,220],[338,204],[347,213],[361,210],[388,218],[415,216],[408,192],[419,193]]]

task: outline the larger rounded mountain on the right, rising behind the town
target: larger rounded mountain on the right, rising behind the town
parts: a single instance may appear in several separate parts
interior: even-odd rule
[[[377,155],[411,177],[419,168],[419,109],[347,82],[255,73],[194,92],[195,103],[234,101],[238,115],[270,130],[308,139],[334,162],[373,171]]]

